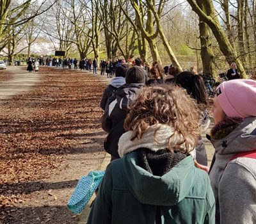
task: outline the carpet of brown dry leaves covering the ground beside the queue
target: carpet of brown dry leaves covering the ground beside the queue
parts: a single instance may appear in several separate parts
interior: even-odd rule
[[[42,83],[0,102],[0,214],[22,203],[26,182],[45,179],[81,136],[102,131],[106,84],[70,70],[40,68]],[[33,75],[33,74],[32,74]],[[56,200],[54,198],[54,200]]]

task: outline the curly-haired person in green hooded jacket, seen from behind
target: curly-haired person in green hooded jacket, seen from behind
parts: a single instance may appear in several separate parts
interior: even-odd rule
[[[207,172],[193,156],[199,113],[179,86],[142,88],[125,118],[88,223],[214,223]]]

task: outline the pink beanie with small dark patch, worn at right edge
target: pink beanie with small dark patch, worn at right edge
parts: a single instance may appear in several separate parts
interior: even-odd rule
[[[233,79],[223,82],[217,87],[216,95],[227,116],[256,116],[256,81]]]

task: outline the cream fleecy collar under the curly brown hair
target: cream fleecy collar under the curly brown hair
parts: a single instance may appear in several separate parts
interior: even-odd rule
[[[156,129],[158,130],[155,134]],[[168,148],[168,139],[172,134],[173,129],[168,125],[152,125],[148,127],[147,131],[144,132],[140,140],[138,140],[138,138],[135,138],[134,140],[131,141],[132,131],[127,131],[124,134],[122,134],[122,136],[119,139],[118,154],[122,158],[125,154],[128,154],[129,152],[132,152],[138,148],[148,148],[153,152],[157,152],[158,150]],[[182,136],[180,136],[180,138],[172,137],[170,139],[172,146],[174,147],[177,143],[182,141],[182,138]],[[180,148],[184,147],[184,143],[180,145]],[[195,148],[190,147],[189,150],[191,150],[189,154],[191,154],[191,156],[195,158]]]

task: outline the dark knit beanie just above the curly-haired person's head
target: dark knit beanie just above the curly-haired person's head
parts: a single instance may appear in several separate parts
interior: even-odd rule
[[[145,70],[138,65],[129,68],[126,72],[125,81],[129,83],[145,83]]]

